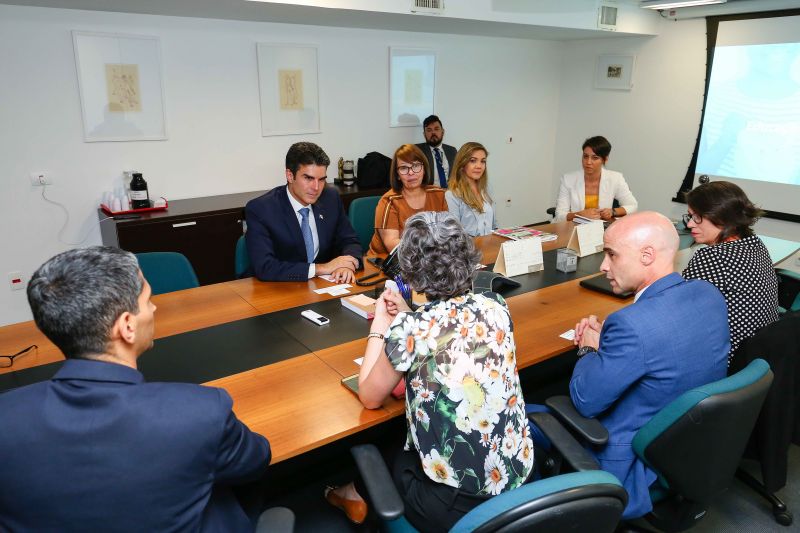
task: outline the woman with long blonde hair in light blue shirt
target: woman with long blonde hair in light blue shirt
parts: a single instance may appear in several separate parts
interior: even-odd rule
[[[497,228],[494,202],[489,196],[486,157],[481,143],[468,142],[453,161],[445,199],[450,214],[472,237],[488,235]]]

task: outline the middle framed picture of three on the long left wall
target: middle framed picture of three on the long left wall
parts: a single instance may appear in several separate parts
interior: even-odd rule
[[[257,43],[261,136],[320,133],[317,46]]]

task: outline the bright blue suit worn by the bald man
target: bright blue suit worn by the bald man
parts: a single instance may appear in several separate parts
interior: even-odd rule
[[[569,384],[578,412],[608,429],[592,450],[603,470],[628,491],[624,517],[652,509],[656,475],[637,459],[634,434],[687,390],[722,379],[730,349],[727,307],[710,283],[670,274],[603,324],[600,349],[578,360]]]

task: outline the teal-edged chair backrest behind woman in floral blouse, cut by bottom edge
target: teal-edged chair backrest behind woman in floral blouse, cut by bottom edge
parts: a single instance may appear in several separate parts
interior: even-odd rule
[[[612,474],[573,472],[495,496],[465,515],[451,532],[611,532],[627,502],[628,494]]]

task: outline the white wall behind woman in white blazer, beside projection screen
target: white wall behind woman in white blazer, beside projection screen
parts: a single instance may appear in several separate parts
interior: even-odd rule
[[[604,135],[613,148],[608,168],[621,171],[640,209],[678,218],[672,202],[692,157],[703,105],[706,69],[704,19],[664,21],[659,36],[565,43],[554,173],[580,168],[580,146]],[[631,91],[593,88],[599,54],[635,54]],[[756,231],[797,240],[792,222],[762,219]]]

